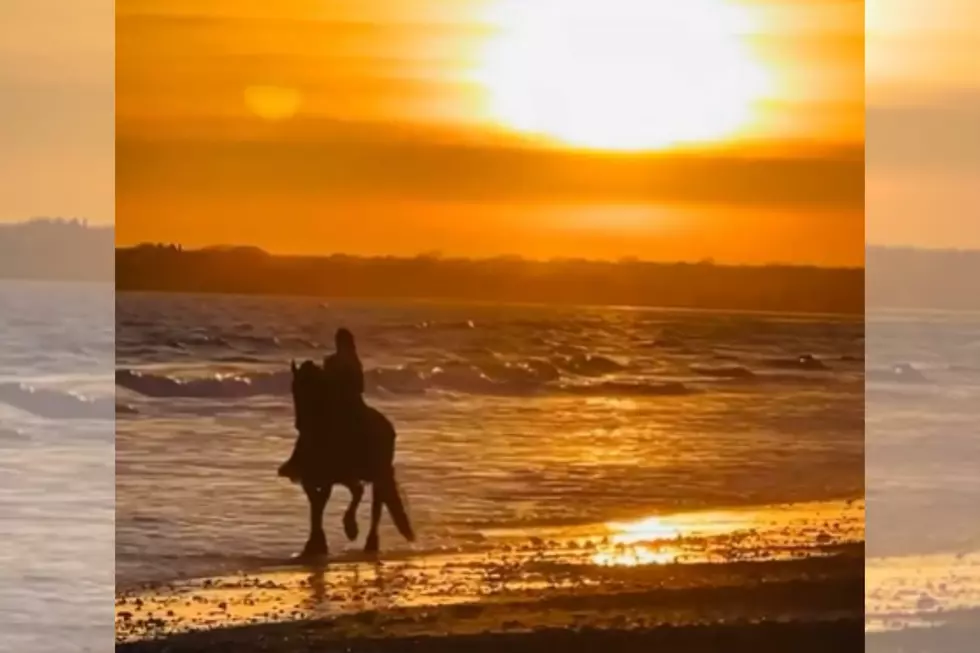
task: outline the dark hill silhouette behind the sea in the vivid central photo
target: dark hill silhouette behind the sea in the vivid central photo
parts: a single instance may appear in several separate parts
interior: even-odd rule
[[[116,250],[116,288],[716,308],[861,314],[864,272],[788,265],[725,266],[505,256],[453,259],[277,256],[253,247],[184,250],[144,244]]]

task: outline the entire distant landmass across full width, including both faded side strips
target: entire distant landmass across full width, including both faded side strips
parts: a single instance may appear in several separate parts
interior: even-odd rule
[[[0,279],[101,281],[122,291],[413,298],[861,314],[980,310],[980,251],[869,247],[859,268],[624,260],[275,256],[257,248],[113,251],[112,226],[0,223]],[[867,281],[865,282],[865,272]]]

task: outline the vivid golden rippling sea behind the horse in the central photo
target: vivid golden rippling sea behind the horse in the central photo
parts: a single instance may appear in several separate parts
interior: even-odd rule
[[[864,492],[860,316],[138,293],[116,316],[122,589],[302,548],[304,495],[276,475],[295,441],[289,366],[329,354],[341,326],[398,432],[418,539],[386,517],[388,555]],[[346,504],[336,489],[325,517],[336,556],[362,546]]]

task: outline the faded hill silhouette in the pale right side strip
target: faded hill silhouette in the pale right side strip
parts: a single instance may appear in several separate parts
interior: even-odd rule
[[[980,310],[980,251],[868,247],[869,308]]]

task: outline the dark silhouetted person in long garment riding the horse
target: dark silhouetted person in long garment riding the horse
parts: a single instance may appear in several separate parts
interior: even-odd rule
[[[352,440],[359,435],[360,417],[364,403],[364,367],[357,356],[354,334],[349,329],[338,329],[334,335],[336,351],[323,359],[323,371],[327,375],[329,411],[332,417],[330,444],[332,455],[346,456],[351,453]],[[279,475],[297,481],[301,476],[301,460],[307,451],[309,434],[302,432],[296,439],[293,453],[279,468]],[[301,453],[302,451],[302,453]]]

